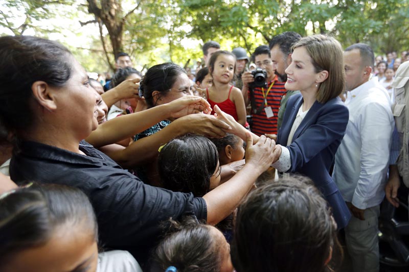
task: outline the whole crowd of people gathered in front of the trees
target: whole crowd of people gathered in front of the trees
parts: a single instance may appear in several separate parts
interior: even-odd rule
[[[1,271],[328,271],[340,230],[379,271],[409,53],[295,32],[221,49],[144,74],[120,53],[101,81],[56,41],[0,37]]]

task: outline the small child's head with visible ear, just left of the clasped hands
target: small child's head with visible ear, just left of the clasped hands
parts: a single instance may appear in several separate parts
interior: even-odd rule
[[[210,139],[219,153],[220,165],[239,161],[244,158],[245,143],[234,134],[227,133],[223,138]]]

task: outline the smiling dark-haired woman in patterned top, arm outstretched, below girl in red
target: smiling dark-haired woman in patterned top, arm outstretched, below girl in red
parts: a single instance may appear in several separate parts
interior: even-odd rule
[[[140,95],[145,98],[148,109],[192,95],[191,83],[185,70],[174,63],[162,63],[148,69],[140,83]],[[137,174],[145,183],[159,185],[156,170],[158,148],[171,139],[187,133],[206,137],[222,137],[219,121],[211,115],[190,114],[178,119],[161,120],[151,128],[138,133],[134,143],[121,157],[113,158],[125,167],[137,166]],[[224,123],[223,123],[224,125]],[[134,156],[135,153],[140,156]]]

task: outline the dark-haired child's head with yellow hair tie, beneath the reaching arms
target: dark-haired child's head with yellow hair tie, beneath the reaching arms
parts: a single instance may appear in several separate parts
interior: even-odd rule
[[[220,183],[216,146],[206,137],[186,135],[164,145],[158,172],[166,189],[203,196]]]

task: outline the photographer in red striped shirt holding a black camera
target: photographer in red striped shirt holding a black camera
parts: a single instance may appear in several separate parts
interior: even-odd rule
[[[252,56],[257,68],[244,72],[242,93],[246,105],[252,105],[252,132],[258,136],[277,134],[277,115],[285,82],[279,82],[267,45],[260,45]]]

